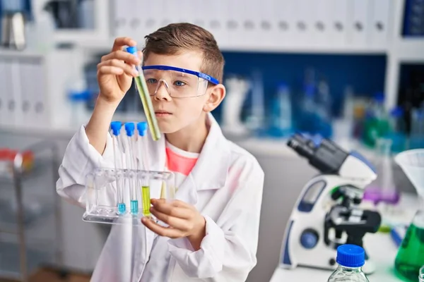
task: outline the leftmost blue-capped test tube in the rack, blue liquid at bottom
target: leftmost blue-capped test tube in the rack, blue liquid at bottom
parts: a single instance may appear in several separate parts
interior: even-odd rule
[[[122,123],[120,121],[112,121],[110,123],[110,128],[112,131],[112,145],[113,145],[113,157],[114,157],[114,168],[115,168],[115,177],[117,179],[117,214],[125,214],[126,207],[124,202],[124,191],[122,185],[122,178],[118,176],[117,169],[124,167],[124,162],[122,158],[122,153],[120,148],[122,144],[119,142],[119,133],[121,132]]]

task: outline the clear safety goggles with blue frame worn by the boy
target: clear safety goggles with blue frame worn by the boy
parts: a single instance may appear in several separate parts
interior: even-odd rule
[[[216,78],[206,73],[191,71],[174,66],[143,66],[148,92],[155,96],[160,85],[164,85],[170,97],[189,98],[198,97],[206,93],[208,82],[219,84]]]

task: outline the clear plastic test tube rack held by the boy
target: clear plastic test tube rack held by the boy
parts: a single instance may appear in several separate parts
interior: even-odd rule
[[[136,182],[136,198],[139,212],[130,207],[130,183]],[[148,186],[148,194],[142,192]],[[143,188],[142,188],[143,186]],[[127,207],[119,209],[119,192]],[[108,224],[142,225],[143,216],[151,217],[148,209],[150,199],[173,200],[175,198],[175,176],[170,171],[143,171],[122,168],[96,168],[86,176],[86,212],[83,221]]]

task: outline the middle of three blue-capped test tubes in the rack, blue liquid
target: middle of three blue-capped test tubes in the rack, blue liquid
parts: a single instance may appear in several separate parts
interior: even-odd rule
[[[125,123],[126,131],[126,168],[130,170],[136,169],[136,136],[134,135],[134,123]],[[129,197],[131,203],[131,214],[139,214],[139,200],[136,193],[136,176],[129,179]]]

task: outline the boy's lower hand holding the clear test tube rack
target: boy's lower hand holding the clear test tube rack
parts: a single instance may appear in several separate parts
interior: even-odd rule
[[[160,226],[146,218],[141,219],[147,228],[169,238],[187,237],[195,250],[200,249],[201,240],[206,235],[206,221],[195,207],[179,200],[165,202],[163,199],[152,199],[151,203],[151,213],[169,227]]]

